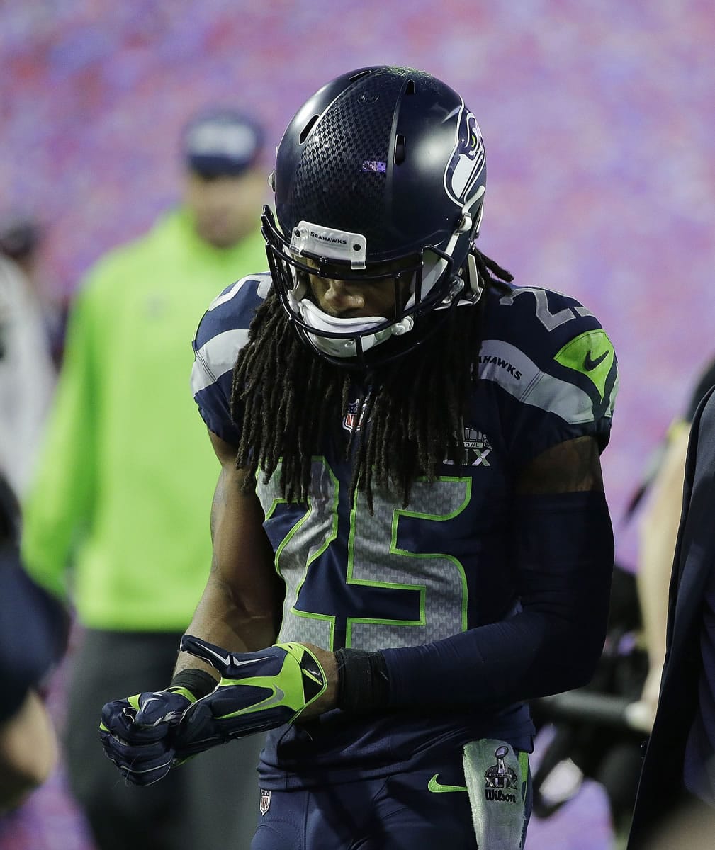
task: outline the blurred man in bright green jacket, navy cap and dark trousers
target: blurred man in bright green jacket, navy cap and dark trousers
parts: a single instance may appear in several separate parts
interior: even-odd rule
[[[24,506],[26,569],[81,626],[64,750],[99,850],[241,850],[258,815],[260,740],[138,789],[116,781],[97,717],[115,694],[170,681],[207,581],[218,467],[189,392],[191,340],[217,291],[267,267],[263,139],[234,111],[195,116],[182,204],[90,270]]]

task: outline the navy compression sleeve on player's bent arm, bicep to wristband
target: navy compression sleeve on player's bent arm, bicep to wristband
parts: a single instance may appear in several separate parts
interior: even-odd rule
[[[514,516],[522,610],[434,643],[383,649],[389,706],[504,706],[593,676],[614,555],[604,494],[519,496]]]

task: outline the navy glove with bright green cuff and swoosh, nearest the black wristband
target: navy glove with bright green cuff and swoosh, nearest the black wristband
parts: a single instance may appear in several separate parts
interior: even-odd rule
[[[320,662],[302,643],[233,653],[184,635],[180,649],[221,674],[216,689],[196,700],[181,718],[175,740],[180,757],[292,723],[327,687]]]

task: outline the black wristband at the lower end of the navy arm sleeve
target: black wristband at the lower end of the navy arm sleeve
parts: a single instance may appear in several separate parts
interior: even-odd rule
[[[381,652],[338,649],[338,708],[369,714],[388,705],[388,668]]]

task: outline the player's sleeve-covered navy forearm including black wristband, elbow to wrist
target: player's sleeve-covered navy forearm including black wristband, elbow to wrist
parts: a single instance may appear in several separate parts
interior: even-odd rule
[[[338,656],[345,654],[349,664],[338,666],[337,705],[351,713],[466,706],[491,711],[582,687],[601,653],[606,597],[593,599],[593,614],[580,622],[577,615],[531,610],[420,646],[341,650]]]

